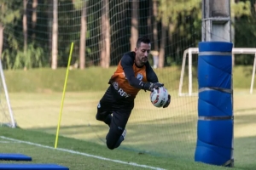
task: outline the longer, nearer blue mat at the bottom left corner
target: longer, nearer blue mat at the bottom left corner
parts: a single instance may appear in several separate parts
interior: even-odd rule
[[[33,170],[69,170],[68,167],[62,167],[56,164],[10,164],[4,163],[0,164],[1,170],[25,170],[25,169],[33,169]]]

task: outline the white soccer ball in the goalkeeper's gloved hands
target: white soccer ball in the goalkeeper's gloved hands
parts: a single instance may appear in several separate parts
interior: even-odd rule
[[[165,87],[154,88],[153,92],[150,93],[150,101],[155,107],[162,107],[166,105],[168,95],[168,91]]]

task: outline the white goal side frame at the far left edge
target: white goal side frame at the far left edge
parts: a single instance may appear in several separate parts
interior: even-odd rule
[[[1,54],[0,54],[1,57]],[[10,105],[7,85],[3,74],[3,65],[0,58],[0,126],[16,127],[15,117]]]

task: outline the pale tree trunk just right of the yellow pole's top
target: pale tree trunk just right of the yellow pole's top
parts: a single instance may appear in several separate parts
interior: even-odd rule
[[[81,14],[81,35],[80,35],[80,48],[79,48],[79,68],[84,70],[85,65],[85,49],[86,49],[86,1],[84,2],[84,7],[82,8]]]

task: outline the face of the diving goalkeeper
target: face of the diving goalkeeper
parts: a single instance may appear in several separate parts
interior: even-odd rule
[[[148,61],[148,54],[150,52],[150,43],[141,42],[138,48],[135,48],[137,64],[143,65]]]

